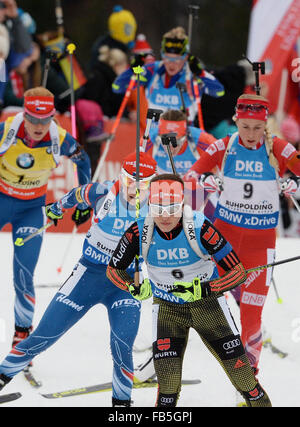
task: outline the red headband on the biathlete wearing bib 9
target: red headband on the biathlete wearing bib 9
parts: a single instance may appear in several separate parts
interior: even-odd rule
[[[261,107],[261,108],[260,108]],[[267,121],[269,114],[269,102],[249,98],[238,98],[235,116],[237,119],[255,119]]]

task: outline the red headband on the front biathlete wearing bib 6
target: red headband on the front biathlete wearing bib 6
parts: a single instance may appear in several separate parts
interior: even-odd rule
[[[179,181],[161,180],[154,181],[150,186],[149,202],[155,204],[168,205],[181,203],[184,199],[183,185]]]

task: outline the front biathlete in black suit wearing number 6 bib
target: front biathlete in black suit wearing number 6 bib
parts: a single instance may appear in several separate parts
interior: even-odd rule
[[[156,406],[176,406],[189,329],[216,357],[248,406],[271,406],[250,367],[223,292],[246,279],[230,243],[200,212],[184,209],[184,182],[154,177],[149,213],[123,234],[107,268],[108,278],[137,300],[153,295]],[[128,241],[126,235],[132,239]],[[140,285],[126,271],[136,256],[148,270]],[[216,263],[225,270],[219,277]]]

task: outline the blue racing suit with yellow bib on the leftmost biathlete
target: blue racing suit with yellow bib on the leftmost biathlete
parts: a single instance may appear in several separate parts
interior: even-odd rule
[[[0,148],[11,120],[0,123]],[[58,127],[59,128],[59,127]],[[60,155],[69,157],[76,165],[80,184],[90,181],[90,160],[78,150],[75,139],[59,128]],[[13,241],[25,238],[45,224],[44,213],[47,182],[57,166],[51,155],[49,134],[34,147],[26,144],[24,125],[16,143],[0,157],[0,230],[12,225]],[[14,245],[13,277],[16,292],[15,325],[30,328],[34,314],[35,292],[33,274],[38,262],[43,234],[24,246]]]

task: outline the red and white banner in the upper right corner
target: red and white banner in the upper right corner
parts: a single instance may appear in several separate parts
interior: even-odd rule
[[[252,61],[264,61],[266,74],[261,76],[261,94],[276,112],[278,119],[294,109],[299,94],[299,81],[293,75],[293,59],[299,56],[300,0],[256,0],[253,3],[248,41]],[[297,115],[297,112],[296,112]]]

